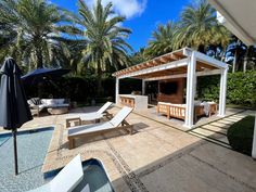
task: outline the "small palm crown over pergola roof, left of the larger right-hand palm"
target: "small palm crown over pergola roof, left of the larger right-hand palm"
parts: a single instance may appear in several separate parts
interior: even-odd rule
[[[146,54],[155,57],[172,51],[172,38],[176,28],[177,26],[174,22],[168,22],[166,25],[158,25],[157,29],[152,34],[153,38],[149,42]]]

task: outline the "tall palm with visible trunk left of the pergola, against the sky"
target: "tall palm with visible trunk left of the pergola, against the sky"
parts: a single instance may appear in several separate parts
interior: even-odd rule
[[[125,41],[130,29],[121,27],[123,16],[116,16],[112,9],[112,3],[102,5],[101,0],[98,0],[92,10],[79,0],[80,17],[76,22],[86,28],[84,37],[87,40],[87,47],[84,50],[84,62],[87,66],[94,68],[98,75],[98,93],[102,91],[102,74],[110,66],[116,69],[119,66],[127,66],[129,57],[128,50],[131,47]]]

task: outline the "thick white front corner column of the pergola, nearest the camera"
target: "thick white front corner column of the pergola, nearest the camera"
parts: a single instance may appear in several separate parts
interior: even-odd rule
[[[188,63],[184,127],[191,128],[194,119],[194,94],[196,89],[196,56],[193,51]]]

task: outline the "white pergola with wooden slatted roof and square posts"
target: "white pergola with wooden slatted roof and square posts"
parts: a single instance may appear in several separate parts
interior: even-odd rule
[[[114,73],[113,76],[116,77],[116,103],[118,103],[119,79],[142,79],[142,94],[144,94],[145,81],[187,78],[184,127],[191,128],[194,118],[196,77],[217,74],[221,76],[218,115],[225,116],[228,65],[190,48],[183,48]]]

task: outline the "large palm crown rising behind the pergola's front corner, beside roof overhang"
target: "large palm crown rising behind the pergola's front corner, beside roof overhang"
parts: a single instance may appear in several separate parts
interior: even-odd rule
[[[181,12],[179,28],[175,34],[174,47],[192,47],[206,52],[209,44],[220,44],[222,48],[229,42],[229,31],[216,20],[215,10],[201,0],[199,4],[188,5]]]

